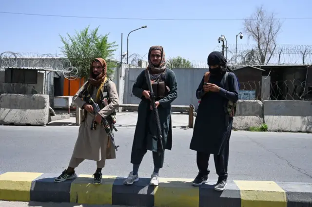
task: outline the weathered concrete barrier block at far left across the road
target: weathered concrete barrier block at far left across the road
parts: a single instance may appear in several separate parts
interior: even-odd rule
[[[0,124],[38,125],[49,122],[49,96],[0,95]]]

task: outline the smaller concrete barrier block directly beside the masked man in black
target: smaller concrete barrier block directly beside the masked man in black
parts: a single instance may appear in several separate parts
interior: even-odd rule
[[[263,124],[262,102],[257,100],[238,100],[233,129],[248,130]]]

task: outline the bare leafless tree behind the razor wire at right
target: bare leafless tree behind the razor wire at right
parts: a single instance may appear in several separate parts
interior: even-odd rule
[[[281,26],[274,13],[269,14],[263,6],[257,7],[254,14],[244,20],[245,33],[256,42],[256,48],[247,51],[252,53],[247,55],[249,59],[252,58],[252,62],[269,63],[276,48],[276,38]]]

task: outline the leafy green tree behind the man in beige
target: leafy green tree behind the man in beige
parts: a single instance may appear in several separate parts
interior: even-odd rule
[[[117,50],[116,42],[109,42],[108,35],[99,35],[98,28],[94,30],[89,29],[90,26],[85,29],[76,32],[76,35],[69,35],[67,38],[60,36],[64,46],[61,48],[61,52],[70,61],[73,67],[76,67],[79,72],[79,77],[88,78],[91,62],[101,57],[105,59],[107,63],[107,74],[110,76],[114,71],[112,68],[116,67],[116,63],[113,61],[113,53]]]

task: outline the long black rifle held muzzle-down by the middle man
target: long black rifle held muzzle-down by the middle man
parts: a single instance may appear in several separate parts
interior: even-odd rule
[[[159,114],[158,114],[158,109],[156,108],[156,104],[155,104],[155,98],[156,95],[153,91],[153,87],[152,87],[152,83],[151,83],[151,76],[150,76],[150,72],[148,69],[145,70],[145,78],[147,81],[147,86],[150,90],[150,99],[151,99],[151,104],[152,104],[152,108],[153,108],[153,112],[154,112],[154,118],[156,121],[156,126],[157,126],[157,141],[160,145],[160,150],[161,152],[164,151],[164,147],[162,144],[162,132],[161,132],[161,126],[160,126],[160,120],[159,120]]]

